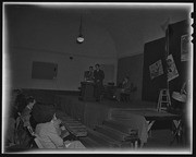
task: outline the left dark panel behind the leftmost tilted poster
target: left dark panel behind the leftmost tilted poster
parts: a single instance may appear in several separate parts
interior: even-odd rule
[[[164,43],[166,38],[160,38],[145,44],[142,92],[143,100],[157,101],[160,88],[167,87]],[[162,62],[163,74],[151,80],[149,65],[158,60],[161,60]]]

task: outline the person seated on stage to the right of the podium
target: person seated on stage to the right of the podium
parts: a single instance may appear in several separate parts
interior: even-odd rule
[[[113,98],[115,98],[118,101],[120,101],[121,100],[121,94],[130,90],[131,85],[133,85],[133,84],[130,83],[130,77],[125,76],[123,82],[122,82],[122,87],[117,88],[117,90],[114,92]]]

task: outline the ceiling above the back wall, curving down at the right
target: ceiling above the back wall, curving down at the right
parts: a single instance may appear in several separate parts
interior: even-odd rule
[[[164,36],[160,25],[170,19],[170,23],[186,20],[191,12],[188,4],[133,4],[133,3],[59,3],[59,4],[13,4],[8,11],[25,14],[46,14],[61,21],[75,20],[83,16],[84,25],[94,23],[111,35],[117,51],[126,53],[127,49],[142,51],[144,43]],[[8,12],[8,14],[10,13]],[[138,43],[137,43],[138,41]]]

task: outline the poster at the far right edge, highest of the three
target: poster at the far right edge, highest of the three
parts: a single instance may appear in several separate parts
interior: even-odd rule
[[[181,61],[187,61],[189,58],[191,36],[188,34],[181,36]]]

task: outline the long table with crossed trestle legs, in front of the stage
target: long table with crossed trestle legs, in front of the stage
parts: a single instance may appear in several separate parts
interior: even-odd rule
[[[138,116],[138,117],[137,117]],[[140,118],[139,118],[140,116]],[[147,124],[140,124],[140,130],[143,134],[149,134],[150,136],[150,131],[156,121],[161,121],[161,120],[171,120],[174,123],[175,126],[175,132],[180,129],[181,125],[181,116],[170,113],[167,111],[157,111],[157,109],[152,108],[137,108],[137,109],[112,109],[109,114],[110,119],[114,120],[126,120],[127,123],[132,125],[138,125],[138,123],[142,123],[140,121],[146,121],[145,123]],[[174,136],[176,135],[175,133],[173,134]],[[146,136],[145,136],[146,138]]]

